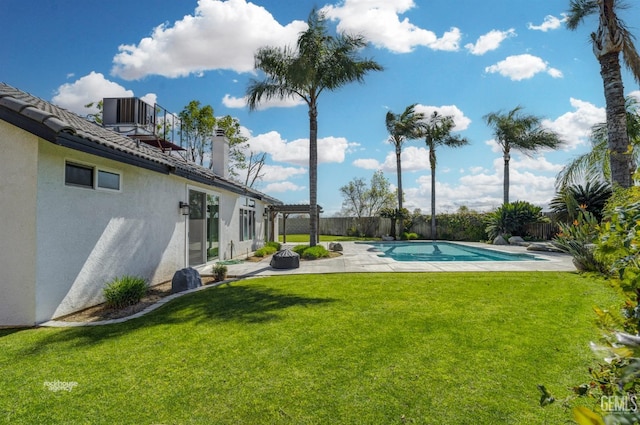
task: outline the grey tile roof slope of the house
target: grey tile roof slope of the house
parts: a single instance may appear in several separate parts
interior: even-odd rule
[[[0,82],[0,108],[26,118],[34,125],[49,130],[53,140],[64,134],[72,135],[95,143],[113,151],[124,153],[132,158],[140,158],[166,167],[167,172],[178,174],[187,179],[199,181],[215,187],[223,187],[236,193],[246,193],[266,199],[274,204],[282,202],[258,192],[254,189],[218,176],[209,168],[188,162],[179,156],[162,152],[162,150],[139,143],[116,131],[104,128],[64,108],[32,96],[19,89]]]

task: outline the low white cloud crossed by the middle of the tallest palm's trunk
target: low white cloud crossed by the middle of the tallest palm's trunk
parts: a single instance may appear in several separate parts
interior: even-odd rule
[[[251,150],[267,152],[276,162],[287,162],[301,166],[309,165],[309,139],[291,142],[282,139],[276,131],[249,138]],[[342,163],[346,152],[353,146],[344,137],[318,139],[318,163]]]

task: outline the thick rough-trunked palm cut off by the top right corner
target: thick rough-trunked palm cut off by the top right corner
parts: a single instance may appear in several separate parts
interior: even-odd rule
[[[640,55],[633,44],[633,35],[618,18],[617,12],[623,7],[622,0],[571,0],[567,27],[574,30],[587,16],[598,14],[598,30],[591,33],[591,41],[604,84],[611,181],[622,187],[630,187],[633,184],[633,160],[626,131],[620,53],[624,64],[639,83]]]

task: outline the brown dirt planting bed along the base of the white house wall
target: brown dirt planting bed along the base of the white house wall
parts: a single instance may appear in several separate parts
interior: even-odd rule
[[[213,282],[214,279],[212,277],[202,277],[203,285],[208,285]],[[61,322],[98,322],[102,320],[120,319],[136,314],[169,295],[171,295],[171,281],[150,287],[147,295],[137,304],[119,309],[108,308],[104,304],[98,304],[67,316],[58,317],[55,320]]]

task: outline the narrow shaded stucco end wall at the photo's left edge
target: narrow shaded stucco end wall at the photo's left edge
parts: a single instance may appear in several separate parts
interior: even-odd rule
[[[38,139],[0,121],[0,326],[35,322]]]

